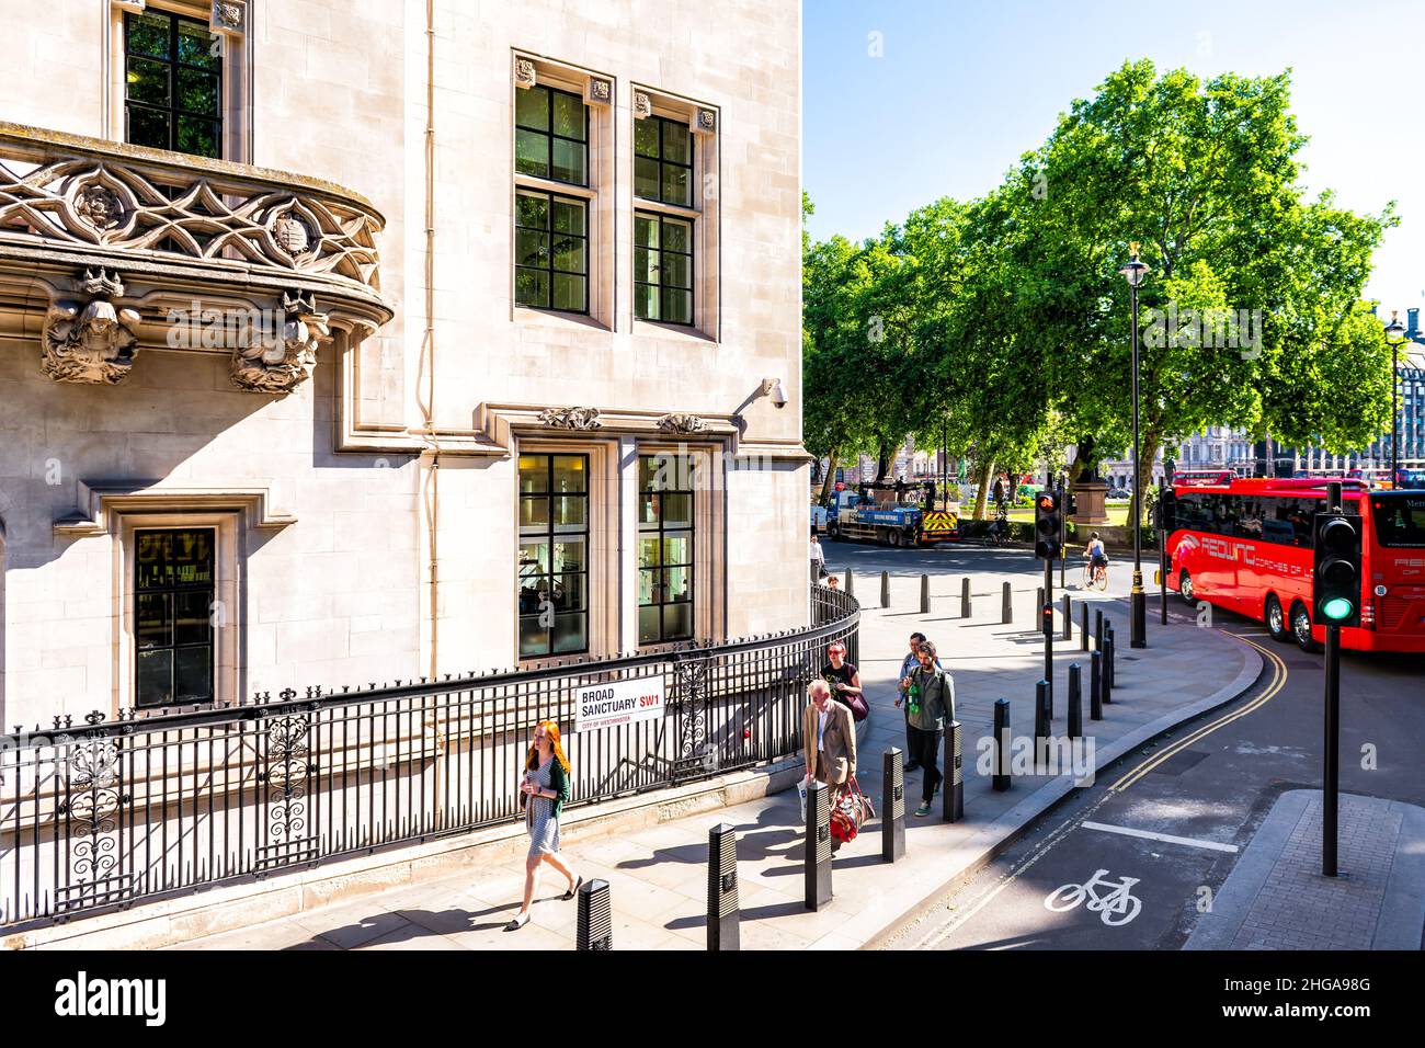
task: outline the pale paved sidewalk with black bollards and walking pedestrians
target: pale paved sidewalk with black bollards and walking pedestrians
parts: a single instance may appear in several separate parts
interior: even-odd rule
[[[906,637],[922,630],[939,644],[953,673],[963,727],[965,820],[906,818],[906,856],[881,860],[881,823],[836,856],[832,903],[818,913],[802,903],[802,833],[795,790],[787,790],[721,811],[690,816],[621,837],[576,841],[566,847],[586,878],[611,885],[616,950],[701,950],[705,945],[707,834],[718,823],[738,830],[738,878],[745,950],[861,948],[874,944],[906,914],[933,898],[965,873],[986,863],[1035,816],[1073,788],[1069,776],[1019,776],[1007,793],[993,793],[976,771],[978,743],[988,737],[993,703],[1007,697],[1012,726],[1032,734],[1033,683],[1043,673],[1043,639],[1026,632],[1036,619],[1029,576],[1016,577],[1015,623],[999,623],[999,577],[976,576],[972,589],[978,613],[959,615],[959,576],[938,577],[929,616],[918,609],[919,579],[892,580],[892,607],[862,616],[861,672],[872,706],[869,730],[861,743],[861,779],[881,803],[881,756],[905,744],[902,713],[893,707],[895,682]],[[879,590],[866,579],[858,590],[875,602]],[[955,595],[955,599],[942,595]],[[1084,730],[1094,743],[1094,767],[1102,767],[1154,734],[1213,706],[1230,702],[1257,677],[1260,657],[1244,644],[1193,626],[1151,623],[1151,647],[1130,652],[1127,615],[1121,602],[1099,597],[1110,609],[1119,632],[1119,682],[1113,704],[1102,721],[1089,720],[1089,659],[1072,643],[1056,642],[1054,731],[1064,731],[1064,677],[1070,662],[1084,666]],[[1077,622],[1077,612],[1074,613]],[[919,773],[908,776],[906,811],[921,790]],[[503,933],[523,888],[523,861],[472,870],[388,891],[365,900],[301,913],[264,925],[187,942],[177,948],[418,948],[509,950],[573,945],[577,903],[556,901],[564,884],[544,875],[532,923]]]

